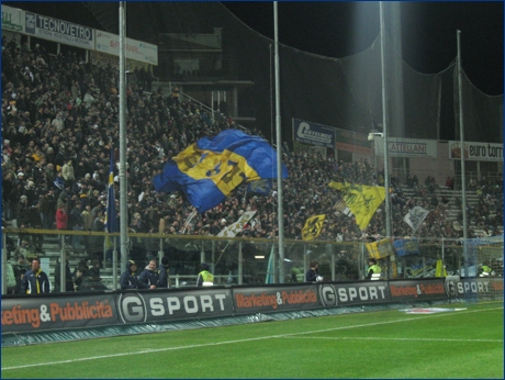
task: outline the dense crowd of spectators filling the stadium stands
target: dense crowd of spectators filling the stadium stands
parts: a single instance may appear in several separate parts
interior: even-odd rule
[[[177,90],[145,91],[143,78],[130,81],[126,90],[125,217],[131,231],[215,236],[245,211],[256,210],[243,234],[276,238],[276,188],[269,195],[259,195],[242,186],[222,204],[198,214],[188,225],[184,222],[194,209],[184,195],[155,191],[152,179],[170,158],[203,136],[238,126],[227,115],[217,114],[214,119],[199,104],[179,99]],[[115,163],[120,158],[117,89],[119,71],[110,65],[86,63],[77,53],[53,55],[38,44],[31,48],[2,38],[4,222],[14,222],[20,228],[104,231],[110,150],[114,152]],[[256,128],[249,133],[261,135]],[[306,219],[316,214],[326,214],[319,239],[350,242],[362,239],[363,234],[369,239],[385,235],[384,204],[362,233],[354,217],[334,209],[341,194],[327,187],[329,181],[380,186],[384,182],[383,172],[375,171],[367,160],[337,161],[317,153],[290,152],[288,146],[283,147],[283,159],[289,171],[289,178],[283,180],[287,238],[300,239]],[[120,210],[117,167],[113,172]],[[434,239],[463,236],[461,200],[439,199],[433,178],[419,183],[416,176],[408,177],[402,185],[393,177],[391,185],[394,236],[411,234],[403,217],[415,205],[430,211],[419,235]],[[406,197],[405,188],[413,189],[416,197]],[[479,194],[478,206],[468,204],[472,224],[490,235],[501,234],[502,179],[472,179],[469,189]],[[456,222],[447,219],[449,208],[460,211]],[[469,236],[472,233],[469,231]],[[32,243],[42,249],[42,241]],[[100,250],[103,238],[77,236],[68,243],[75,248],[85,244]]]

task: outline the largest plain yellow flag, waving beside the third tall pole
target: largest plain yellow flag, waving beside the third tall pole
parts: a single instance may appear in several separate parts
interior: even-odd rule
[[[385,199],[385,188],[354,183],[329,182],[328,187],[343,192],[344,202],[356,216],[356,223],[363,231],[368,227],[375,210]]]

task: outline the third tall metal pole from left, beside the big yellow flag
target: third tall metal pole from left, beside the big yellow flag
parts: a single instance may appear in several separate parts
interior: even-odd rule
[[[388,89],[385,70],[385,27],[384,4],[379,3],[381,21],[381,72],[382,72],[382,133],[384,134],[384,188],[385,188],[385,235],[392,237],[391,232],[391,206],[390,206],[390,164],[388,155]]]

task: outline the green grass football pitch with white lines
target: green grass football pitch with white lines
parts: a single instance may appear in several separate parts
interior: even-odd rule
[[[2,349],[2,378],[504,378],[503,303]]]

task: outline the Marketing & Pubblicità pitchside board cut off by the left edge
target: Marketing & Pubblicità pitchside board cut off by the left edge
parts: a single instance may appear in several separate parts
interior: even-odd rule
[[[117,323],[113,294],[2,299],[2,333]]]

